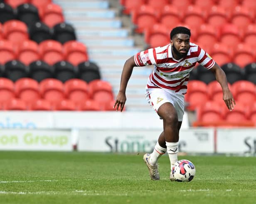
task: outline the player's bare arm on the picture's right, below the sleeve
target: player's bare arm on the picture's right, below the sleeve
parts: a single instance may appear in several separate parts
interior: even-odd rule
[[[233,98],[233,95],[232,95],[231,91],[229,90],[229,86],[228,86],[228,82],[226,80],[225,72],[222,70],[221,67],[219,67],[219,65],[216,62],[210,70],[214,73],[214,75],[216,77],[216,80],[222,86],[223,100],[226,103],[226,106],[231,111],[232,109],[234,109],[234,106],[236,105],[236,102]]]

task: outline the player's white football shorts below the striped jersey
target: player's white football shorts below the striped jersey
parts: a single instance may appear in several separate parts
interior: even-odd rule
[[[182,121],[185,107],[183,94],[165,91],[161,88],[146,88],[146,99],[156,113],[162,104],[166,102],[172,103],[177,111],[178,120]]]

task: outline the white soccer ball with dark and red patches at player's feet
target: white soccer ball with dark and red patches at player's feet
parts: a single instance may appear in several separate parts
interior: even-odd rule
[[[191,161],[188,160],[180,160],[177,161],[172,167],[172,174],[175,181],[182,182],[190,182],[194,178],[196,174],[196,168]]]

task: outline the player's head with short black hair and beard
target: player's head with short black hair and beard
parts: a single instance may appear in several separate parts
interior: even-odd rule
[[[178,26],[172,29],[170,33],[172,51],[179,57],[187,55],[190,48],[190,29]]]

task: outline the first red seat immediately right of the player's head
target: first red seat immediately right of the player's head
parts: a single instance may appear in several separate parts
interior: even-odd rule
[[[202,24],[197,32],[197,42],[202,45],[207,45],[209,42],[211,44],[217,43],[218,37],[216,29],[208,24]]]

